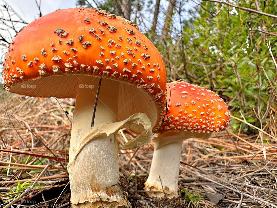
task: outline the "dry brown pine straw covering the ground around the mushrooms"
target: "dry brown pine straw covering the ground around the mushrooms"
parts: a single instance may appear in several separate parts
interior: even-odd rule
[[[73,99],[25,98],[1,92],[1,207],[31,187],[13,207],[70,207],[68,162]],[[3,102],[4,101],[4,102]],[[135,135],[122,129],[121,144]],[[234,134],[183,143],[179,198],[149,199],[143,190],[153,146],[120,151],[121,187],[133,207],[277,207],[277,145],[264,135]],[[9,173],[8,173],[9,172]],[[8,174],[7,174],[8,173]],[[104,174],[104,173],[103,173]]]

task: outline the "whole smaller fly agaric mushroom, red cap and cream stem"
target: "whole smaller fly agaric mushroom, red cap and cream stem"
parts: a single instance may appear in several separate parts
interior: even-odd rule
[[[209,138],[223,131],[230,112],[226,103],[211,90],[175,81],[167,85],[169,107],[159,135],[154,138],[154,154],[145,182],[149,196],[177,197],[180,156],[184,139]],[[171,93],[170,93],[171,92]]]

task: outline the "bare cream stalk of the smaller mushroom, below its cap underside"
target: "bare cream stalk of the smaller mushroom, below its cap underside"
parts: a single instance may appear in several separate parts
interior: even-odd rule
[[[145,190],[151,197],[162,197],[164,192],[168,198],[177,197],[180,155],[183,140],[176,140],[166,145],[155,141],[153,159],[149,177],[145,182]],[[157,146],[162,146],[157,149]]]

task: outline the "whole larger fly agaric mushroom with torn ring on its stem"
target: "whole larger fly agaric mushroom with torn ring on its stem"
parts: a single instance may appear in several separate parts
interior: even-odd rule
[[[117,132],[126,125],[143,132],[124,149],[150,140],[166,99],[164,63],[150,40],[108,11],[58,10],[16,35],[3,66],[12,93],[76,98],[68,164],[73,207],[129,207],[118,185]]]

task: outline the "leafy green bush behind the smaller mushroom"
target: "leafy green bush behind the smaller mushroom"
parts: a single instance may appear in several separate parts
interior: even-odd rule
[[[254,1],[233,3],[257,10]],[[274,0],[260,1],[259,6],[263,12],[277,14]],[[260,127],[270,119],[267,105],[274,107],[274,92],[262,68],[274,89],[277,87],[276,69],[267,48],[270,41],[276,57],[277,37],[260,31],[274,33],[276,29],[277,19],[202,1],[196,13],[182,23],[180,36],[167,41],[166,49],[158,48],[164,57],[169,56],[167,66],[181,69],[168,71],[169,77],[208,86],[227,101],[233,116],[243,119],[242,113],[247,122]],[[260,123],[258,117],[264,114]],[[234,119],[231,125],[235,131],[240,128],[242,133],[257,133]]]

